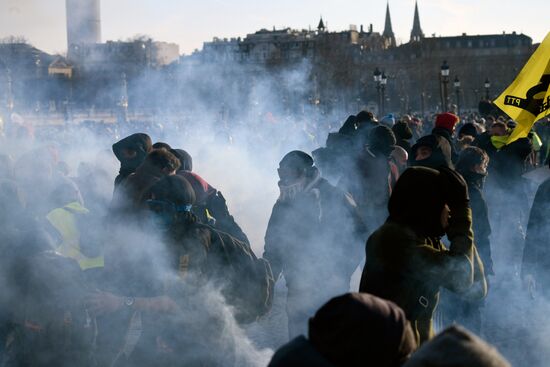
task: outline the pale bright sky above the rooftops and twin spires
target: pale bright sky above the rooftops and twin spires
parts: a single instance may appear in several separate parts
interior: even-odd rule
[[[419,0],[424,34],[494,34],[516,31],[540,42],[550,32],[550,0]],[[261,28],[312,28],[322,15],[329,30],[350,24],[382,32],[386,0],[103,0],[102,38],[137,34],[174,42],[182,53],[213,37],[244,37]],[[393,30],[407,42],[414,0],[390,0]],[[65,0],[0,0],[0,38],[24,36],[50,53],[65,52]]]

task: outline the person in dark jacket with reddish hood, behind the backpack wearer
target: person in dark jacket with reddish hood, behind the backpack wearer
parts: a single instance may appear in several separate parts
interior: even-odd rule
[[[250,244],[248,237],[229,213],[222,193],[193,171],[193,158],[183,149],[171,149],[181,166],[176,174],[185,178],[195,191],[193,213],[202,223],[207,223],[236,239]]]

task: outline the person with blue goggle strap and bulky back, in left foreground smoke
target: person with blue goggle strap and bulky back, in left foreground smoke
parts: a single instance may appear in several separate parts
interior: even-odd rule
[[[269,264],[197,221],[195,193],[184,178],[165,176],[149,192],[145,231],[110,247],[103,285],[109,292],[88,301],[102,316],[100,355],[121,366],[231,365],[234,341],[227,334],[236,326],[228,323],[269,310]]]

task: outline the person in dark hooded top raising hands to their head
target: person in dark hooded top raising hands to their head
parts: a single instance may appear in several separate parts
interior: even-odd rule
[[[487,291],[473,245],[466,183],[451,170],[409,168],[397,181],[388,210],[386,223],[367,241],[360,291],[403,308],[423,343],[433,335],[440,287],[471,298]],[[445,234],[449,250],[441,242]]]

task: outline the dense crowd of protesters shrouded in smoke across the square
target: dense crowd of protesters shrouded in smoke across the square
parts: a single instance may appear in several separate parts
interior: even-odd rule
[[[513,142],[512,120],[451,112],[293,126],[309,150],[279,162],[262,254],[158,131],[102,128],[90,155],[5,126],[0,365],[261,365],[242,328],[284,279],[270,366],[509,366],[483,310],[515,280],[550,297],[550,118]]]

